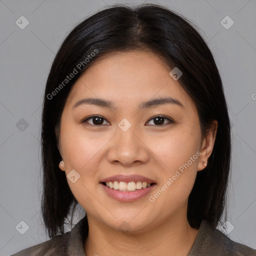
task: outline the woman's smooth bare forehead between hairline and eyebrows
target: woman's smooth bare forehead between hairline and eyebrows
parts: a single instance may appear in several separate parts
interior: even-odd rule
[[[83,97],[98,97],[123,107],[171,96],[191,107],[192,99],[178,81],[171,78],[170,70],[165,61],[153,52],[106,54],[74,83],[66,104],[73,104]]]

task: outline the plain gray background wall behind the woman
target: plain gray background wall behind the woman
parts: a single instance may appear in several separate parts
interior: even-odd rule
[[[230,231],[229,225],[228,235],[256,248],[256,1],[150,2],[164,4],[192,20],[214,54],[232,121],[228,221],[234,229]],[[0,255],[48,239],[40,215],[38,140],[46,78],[73,25],[112,3],[117,1],[0,0]],[[15,24],[22,15],[29,21],[24,29]],[[234,21],[229,29],[220,23],[226,15]],[[29,226],[24,234],[15,228],[21,220]],[[24,224],[18,226],[24,231]]]

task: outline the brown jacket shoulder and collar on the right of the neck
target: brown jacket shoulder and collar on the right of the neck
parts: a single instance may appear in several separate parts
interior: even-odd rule
[[[188,254],[188,256],[195,255],[256,256],[256,250],[232,241],[220,230],[211,228],[206,221],[202,221]]]

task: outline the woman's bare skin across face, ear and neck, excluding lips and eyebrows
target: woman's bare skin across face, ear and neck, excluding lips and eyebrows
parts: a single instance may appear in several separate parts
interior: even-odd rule
[[[169,75],[170,67],[155,53],[115,52],[91,65],[73,85],[61,115],[59,165],[66,175],[75,169],[80,178],[68,185],[85,209],[89,232],[86,255],[187,255],[198,232],[187,218],[187,200],[197,171],[205,168],[215,140],[217,122],[202,135],[195,103]],[[177,104],[139,109],[146,100],[171,96]],[[115,109],[73,105],[82,98],[111,100]],[[152,119],[161,114],[157,124]],[[90,115],[100,115],[102,124]],[[126,118],[127,131],[118,123]],[[94,120],[95,121],[95,120]],[[148,197],[172,177],[197,151],[200,156],[158,197]],[[133,202],[109,197],[100,180],[115,174],[140,174],[156,181],[149,195]],[[129,230],[120,230],[126,221]]]

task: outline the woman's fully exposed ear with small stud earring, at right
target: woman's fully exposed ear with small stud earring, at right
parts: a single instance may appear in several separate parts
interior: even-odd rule
[[[198,162],[198,170],[202,170],[207,165],[208,158],[213,150],[216,132],[217,132],[218,122],[216,120],[212,121],[210,128],[208,129],[206,135],[203,137],[201,142],[201,155]]]

